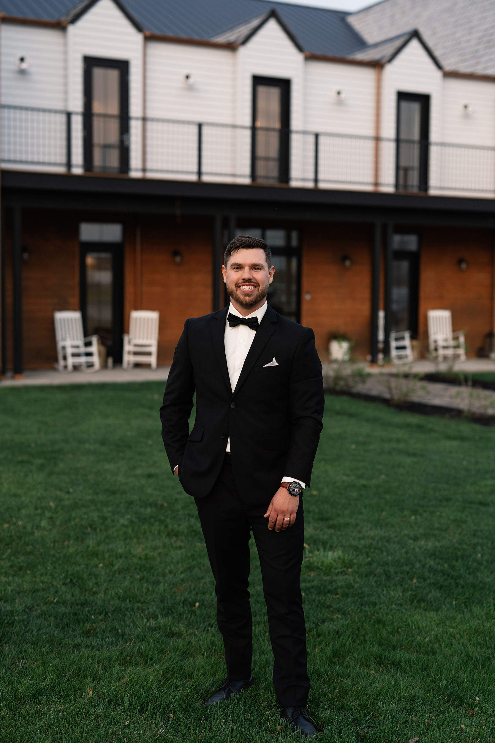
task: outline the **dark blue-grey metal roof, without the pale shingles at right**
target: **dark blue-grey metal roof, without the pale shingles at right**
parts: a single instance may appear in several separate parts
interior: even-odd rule
[[[366,46],[341,10],[269,0],[122,0],[151,33],[213,39],[276,10],[305,51],[347,56]],[[58,21],[79,6],[74,0],[0,0],[7,16]]]

